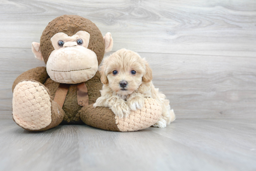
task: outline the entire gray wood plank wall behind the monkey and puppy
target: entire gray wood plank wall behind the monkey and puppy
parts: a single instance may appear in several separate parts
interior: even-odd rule
[[[47,24],[80,15],[113,51],[139,52],[178,119],[256,118],[256,1],[1,0],[0,118],[12,118],[12,83],[45,66],[31,52]]]

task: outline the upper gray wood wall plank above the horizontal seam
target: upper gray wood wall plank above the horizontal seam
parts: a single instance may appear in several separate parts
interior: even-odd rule
[[[0,47],[30,48],[57,16],[90,19],[111,32],[113,51],[256,56],[256,1],[4,0]],[[15,42],[15,43],[14,43]]]

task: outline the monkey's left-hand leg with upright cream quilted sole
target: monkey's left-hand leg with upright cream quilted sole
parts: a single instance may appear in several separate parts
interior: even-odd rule
[[[13,120],[29,131],[44,131],[56,127],[65,115],[64,110],[51,100],[43,84],[25,80],[13,91]]]

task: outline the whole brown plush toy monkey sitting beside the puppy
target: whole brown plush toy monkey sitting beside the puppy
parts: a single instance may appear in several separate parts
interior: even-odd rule
[[[60,123],[86,123],[112,131],[152,126],[162,110],[152,98],[129,118],[119,119],[108,108],[92,106],[102,88],[98,65],[112,47],[111,34],[102,37],[98,27],[86,18],[63,15],[53,19],[40,43],[32,43],[35,57],[46,67],[30,69],[13,83],[14,121],[29,131],[48,130]]]

